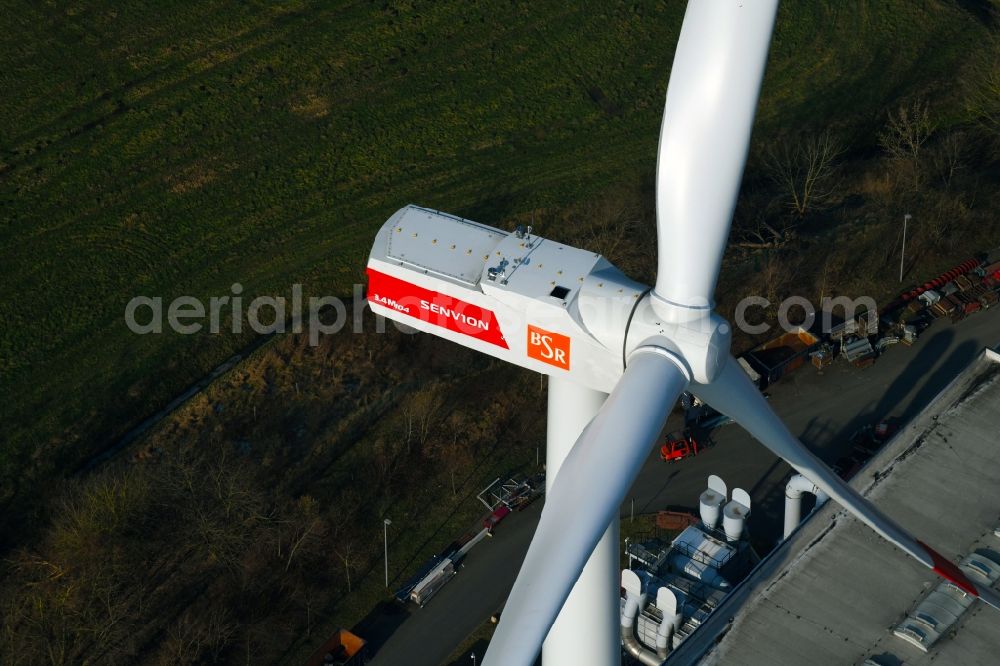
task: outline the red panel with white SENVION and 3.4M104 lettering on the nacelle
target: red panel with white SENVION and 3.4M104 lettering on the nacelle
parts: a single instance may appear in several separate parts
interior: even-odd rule
[[[469,337],[509,349],[491,310],[368,269],[368,301]]]

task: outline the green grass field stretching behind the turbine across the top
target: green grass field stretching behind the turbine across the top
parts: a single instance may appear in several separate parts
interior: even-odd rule
[[[134,295],[347,294],[406,203],[502,226],[648,182],[684,7],[4,5],[0,501],[249,340],[134,335]],[[756,139],[863,149],[916,94],[964,121],[976,5],[783,3]]]

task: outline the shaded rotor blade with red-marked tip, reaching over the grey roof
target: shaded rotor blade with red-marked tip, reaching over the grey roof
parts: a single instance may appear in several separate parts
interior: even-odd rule
[[[892,518],[875,508],[858,491],[841,479],[788,431],[750,378],[730,357],[719,377],[708,385],[691,386],[691,391],[709,405],[742,425],[764,446],[784,458],[837,503],[883,537],[902,548],[921,564],[933,569],[957,587],[1000,609],[1000,594],[976,585],[951,560],[915,539]]]

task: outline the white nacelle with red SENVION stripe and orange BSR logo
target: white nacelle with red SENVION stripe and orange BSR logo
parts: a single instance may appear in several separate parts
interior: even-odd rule
[[[368,260],[376,314],[610,392],[648,287],[593,252],[406,206]]]

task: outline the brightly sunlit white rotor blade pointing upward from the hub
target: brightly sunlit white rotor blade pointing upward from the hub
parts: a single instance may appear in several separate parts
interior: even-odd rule
[[[699,0],[684,14],[656,162],[656,294],[711,308],[778,0]]]

